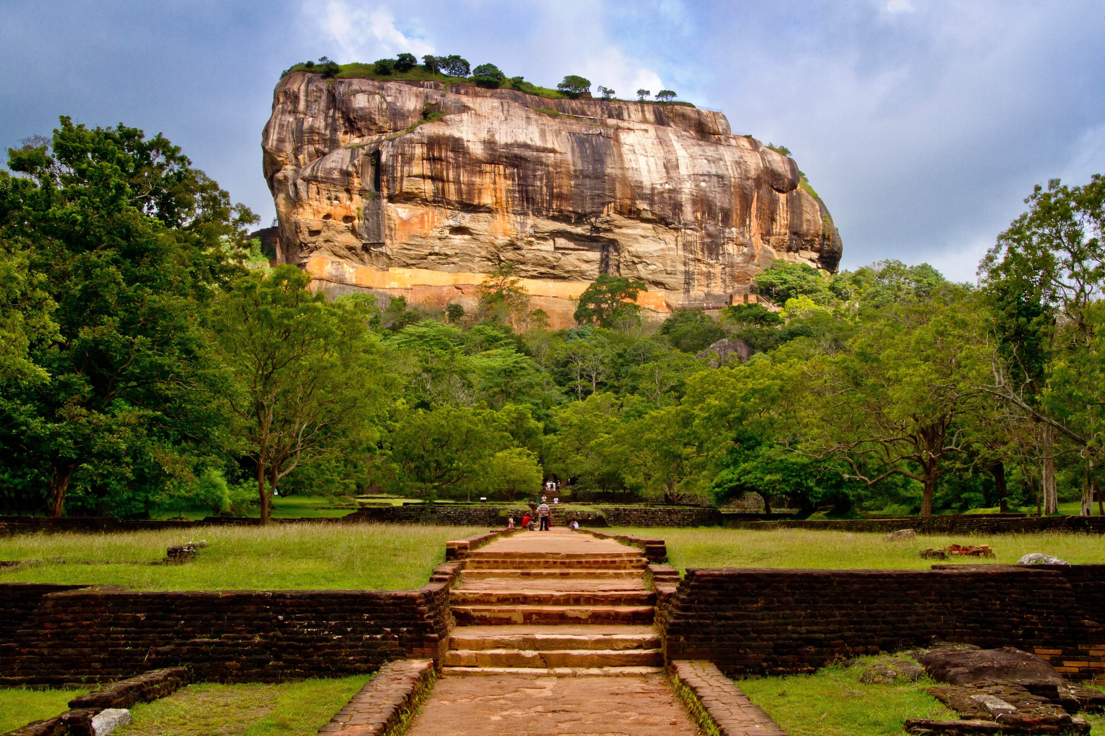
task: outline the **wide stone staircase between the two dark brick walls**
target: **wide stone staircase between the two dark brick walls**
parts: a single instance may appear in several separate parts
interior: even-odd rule
[[[457,627],[442,672],[661,672],[646,565],[640,551],[560,529],[470,553],[451,594]]]

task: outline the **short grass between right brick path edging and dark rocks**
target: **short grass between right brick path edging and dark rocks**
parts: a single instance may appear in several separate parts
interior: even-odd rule
[[[906,718],[958,718],[925,692],[937,684],[928,678],[891,685],[860,682],[869,664],[887,659],[893,658],[864,657],[850,666],[736,684],[790,736],[897,736]],[[1091,723],[1094,736],[1105,736],[1105,717],[1080,715]]]

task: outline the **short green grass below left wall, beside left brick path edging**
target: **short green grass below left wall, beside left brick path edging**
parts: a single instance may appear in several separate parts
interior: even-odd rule
[[[118,736],[315,736],[371,675],[280,684],[200,683],[131,708]]]

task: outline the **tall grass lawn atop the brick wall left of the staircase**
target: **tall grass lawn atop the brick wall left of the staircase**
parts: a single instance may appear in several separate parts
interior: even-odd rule
[[[445,559],[445,542],[483,526],[280,524],[110,534],[0,537],[0,559],[41,564],[0,568],[0,583],[128,585],[139,590],[418,588]],[[148,565],[172,544],[204,540],[196,562]],[[50,561],[64,559],[67,564]],[[110,564],[96,561],[113,561]],[[94,564],[73,564],[93,562]]]

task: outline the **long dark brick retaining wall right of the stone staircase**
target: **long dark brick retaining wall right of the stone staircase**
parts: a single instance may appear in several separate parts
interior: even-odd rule
[[[657,621],[669,660],[707,659],[733,676],[811,672],[934,637],[1065,655],[1101,634],[1063,574],[1006,566],[688,569]]]

